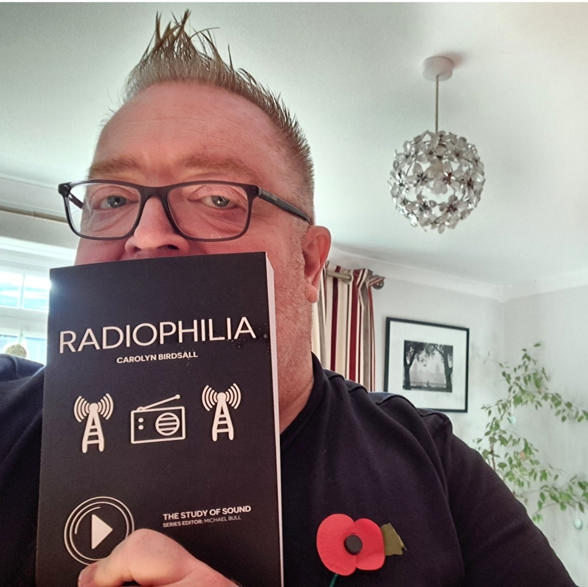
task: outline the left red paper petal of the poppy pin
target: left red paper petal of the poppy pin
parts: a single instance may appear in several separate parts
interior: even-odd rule
[[[320,560],[329,571],[338,575],[351,575],[356,569],[356,555],[349,554],[345,549],[345,538],[353,534],[353,528],[353,520],[349,516],[332,514],[320,522],[316,532]]]

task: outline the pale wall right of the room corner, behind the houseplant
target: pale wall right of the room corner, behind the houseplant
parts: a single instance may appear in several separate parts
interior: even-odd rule
[[[517,361],[521,348],[542,343],[533,354],[552,377],[549,390],[588,410],[588,286],[509,300],[504,305],[507,357]],[[517,415],[516,428],[540,450],[543,462],[567,473],[564,478],[578,472],[588,475],[588,422],[562,423],[553,413],[523,412]],[[546,510],[540,527],[572,578],[578,585],[585,585],[588,531],[574,528],[576,516],[588,526],[588,515],[552,507]]]

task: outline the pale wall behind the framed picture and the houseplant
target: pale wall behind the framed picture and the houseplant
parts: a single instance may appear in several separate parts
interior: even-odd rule
[[[497,363],[517,362],[520,349],[536,342],[544,344],[537,358],[553,374],[550,390],[588,409],[588,384],[581,368],[586,360],[588,286],[503,301],[503,290],[485,284],[410,271],[336,247],[329,260],[346,269],[366,267],[386,277],[383,289],[373,291],[377,390],[383,390],[387,316],[470,329],[469,410],[466,414],[447,414],[455,434],[467,444],[472,445],[474,438],[483,435],[487,420],[482,405],[495,402],[506,390]],[[543,462],[588,475],[588,422],[558,425],[552,414],[520,410],[516,430],[536,445]],[[574,528],[577,515],[550,508],[539,527],[574,581],[584,585],[588,576],[588,532]],[[588,524],[588,515],[580,517],[584,525]]]

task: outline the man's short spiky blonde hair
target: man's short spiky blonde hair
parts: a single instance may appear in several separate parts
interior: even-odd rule
[[[155,16],[155,33],[139,63],[126,79],[122,99],[127,102],[141,90],[169,81],[202,83],[242,96],[258,106],[276,125],[283,142],[292,153],[294,170],[301,177],[295,195],[306,212],[314,217],[314,170],[310,147],[296,117],[290,114],[280,95],[261,85],[245,69],[233,68],[220,56],[211,29],[186,32],[190,11],[181,19],[173,17],[161,32],[161,14]],[[195,42],[199,45],[196,46]]]

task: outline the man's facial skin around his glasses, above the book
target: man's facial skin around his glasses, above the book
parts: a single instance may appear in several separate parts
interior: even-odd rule
[[[192,165],[180,165],[187,157],[192,157]],[[278,131],[257,106],[218,88],[168,82],[142,90],[108,122],[96,147],[90,179],[147,186],[228,180],[259,185],[295,203],[292,194],[298,176],[290,169]],[[316,283],[316,261],[309,267],[305,247],[312,231],[324,231],[323,241],[329,240],[326,229],[307,229],[304,220],[256,199],[248,232],[239,239],[186,240],[174,232],[161,202],[152,197],[129,239],[81,239],[76,264],[266,251],[275,273],[278,352],[288,361],[286,341],[310,337],[309,284]],[[316,257],[316,246],[312,254]]]

